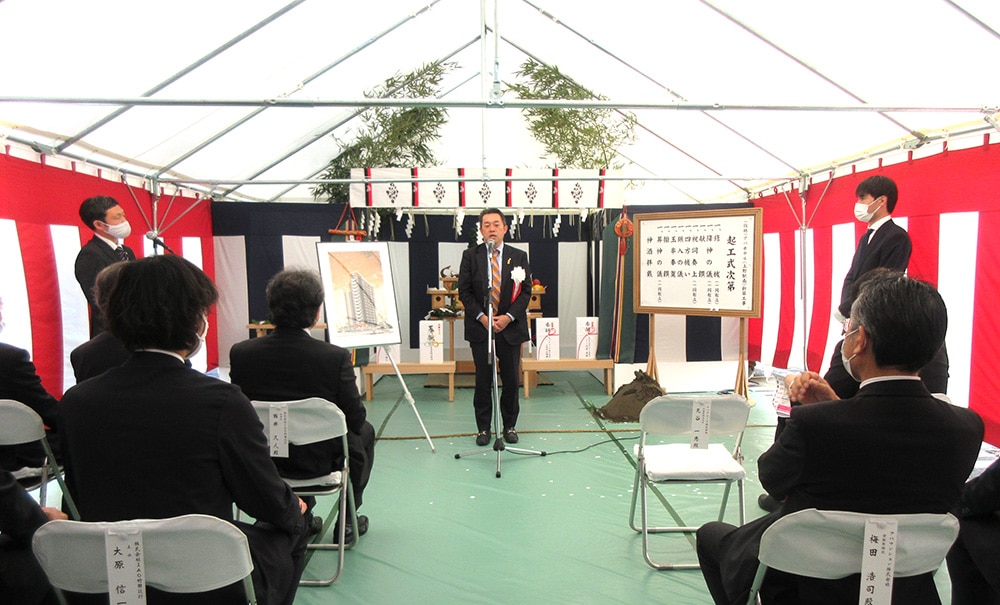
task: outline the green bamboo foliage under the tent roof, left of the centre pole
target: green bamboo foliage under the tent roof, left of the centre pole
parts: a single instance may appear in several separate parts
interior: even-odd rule
[[[441,80],[455,68],[454,63],[434,62],[408,74],[396,74],[381,86],[365,92],[369,99],[429,99],[440,93]],[[371,107],[361,112],[361,126],[354,139],[341,144],[340,153],[330,160],[321,178],[346,179],[351,168],[399,168],[434,166],[437,159],[431,143],[440,137],[447,121],[443,107]],[[340,142],[340,141],[338,141]],[[316,199],[346,203],[350,187],[325,183],[312,190]]]

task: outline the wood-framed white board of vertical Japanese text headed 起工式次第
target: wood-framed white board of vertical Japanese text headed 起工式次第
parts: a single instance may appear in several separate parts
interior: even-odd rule
[[[759,317],[760,208],[635,216],[636,313]]]

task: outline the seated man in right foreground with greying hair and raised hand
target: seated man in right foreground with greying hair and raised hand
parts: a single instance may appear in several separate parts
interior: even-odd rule
[[[941,295],[902,274],[876,277],[851,308],[844,367],[861,382],[839,401],[801,405],[757,461],[782,506],[742,527],[712,522],[697,534],[702,574],[716,603],[745,603],[760,536],[805,508],[874,514],[946,513],[979,453],[983,422],[930,394],[917,371],[941,348]],[[857,603],[859,576],[822,581],[769,571],[765,603]],[[940,603],[931,574],[897,578],[893,602]]]

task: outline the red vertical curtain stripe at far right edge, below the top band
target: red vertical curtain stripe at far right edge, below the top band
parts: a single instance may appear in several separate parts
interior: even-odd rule
[[[979,251],[976,257],[975,302],[972,314],[972,371],[969,376],[969,407],[986,423],[985,440],[1000,444],[1000,314],[996,301],[1000,299],[1000,246],[984,245],[995,241],[1000,233],[1000,213],[979,214]]]

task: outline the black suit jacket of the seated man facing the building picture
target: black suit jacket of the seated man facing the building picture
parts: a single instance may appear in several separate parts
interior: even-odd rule
[[[256,401],[322,397],[344,412],[347,428],[361,434],[367,411],[347,349],[316,340],[305,330],[275,328],[270,334],[233,345],[229,378]],[[275,458],[281,474],[315,477],[334,470],[343,450],[339,439],[288,448],[288,458]],[[353,473],[352,469],[352,473]]]

